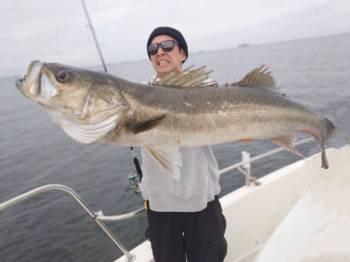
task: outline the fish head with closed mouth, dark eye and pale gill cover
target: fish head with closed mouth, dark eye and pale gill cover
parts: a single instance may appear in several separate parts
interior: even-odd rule
[[[116,132],[128,109],[110,79],[105,72],[33,61],[16,87],[73,139],[92,143]]]

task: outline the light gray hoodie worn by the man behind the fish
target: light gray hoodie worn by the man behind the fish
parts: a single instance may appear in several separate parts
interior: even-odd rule
[[[153,82],[156,76],[149,81]],[[156,79],[160,81],[159,78]],[[204,81],[210,83],[208,78]],[[147,83],[147,82],[144,82]],[[182,156],[181,178],[176,181],[144,148],[140,185],[142,197],[149,200],[149,207],[159,212],[197,212],[220,193],[219,169],[210,146],[180,147]]]

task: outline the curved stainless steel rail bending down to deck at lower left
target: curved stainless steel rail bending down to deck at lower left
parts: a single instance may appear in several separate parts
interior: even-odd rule
[[[128,250],[126,250],[126,248],[112,234],[112,232],[105,226],[105,224],[102,221],[96,219],[97,215],[89,208],[89,206],[83,201],[83,199],[81,199],[76,192],[74,192],[69,187],[66,187],[65,185],[60,185],[60,184],[43,185],[42,187],[38,187],[36,189],[30,190],[22,195],[16,196],[6,202],[1,203],[0,210],[8,208],[9,206],[12,206],[28,197],[37,195],[41,192],[48,191],[48,190],[62,190],[70,194],[83,207],[83,209],[85,209],[85,211],[93,218],[93,220],[95,220],[96,223],[106,232],[106,234],[113,240],[113,242],[119,247],[119,249],[124,253],[124,255],[126,256],[125,261],[129,262],[129,261],[135,260],[136,255],[130,254]]]

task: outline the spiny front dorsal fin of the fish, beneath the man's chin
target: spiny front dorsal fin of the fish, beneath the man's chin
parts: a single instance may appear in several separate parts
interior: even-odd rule
[[[215,81],[211,83],[204,83],[205,80],[209,78],[209,72],[204,72],[205,66],[198,69],[191,70],[193,66],[186,68],[179,74],[174,74],[173,72],[167,74],[160,81],[154,80],[153,85],[162,86],[176,86],[176,87],[207,87],[207,86],[218,86]]]

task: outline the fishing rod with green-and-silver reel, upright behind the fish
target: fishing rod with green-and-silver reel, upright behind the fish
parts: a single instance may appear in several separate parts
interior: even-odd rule
[[[89,28],[90,28],[90,30],[91,30],[91,32],[92,32],[92,36],[93,36],[93,39],[94,39],[94,41],[95,41],[95,44],[96,44],[98,53],[99,53],[99,55],[100,55],[100,58],[101,58],[101,61],[102,61],[102,65],[103,65],[103,67],[104,67],[104,69],[105,69],[105,72],[107,73],[107,67],[106,67],[105,61],[104,61],[104,59],[103,59],[100,46],[99,46],[98,41],[97,41],[97,37],[96,37],[96,34],[95,34],[95,30],[93,30],[92,23],[91,23],[90,16],[89,16],[89,12],[87,12],[87,8],[86,8],[85,1],[84,1],[84,0],[82,0],[82,5],[83,5],[83,8],[84,8],[84,12],[85,12],[87,21],[89,22]],[[143,177],[144,175],[142,174],[142,170],[141,170],[141,167],[140,167],[139,160],[137,159],[137,157],[136,157],[136,155],[135,155],[135,152],[134,152],[134,149],[132,148],[132,146],[130,147],[130,149],[131,149],[131,152],[132,152],[133,157],[134,157],[134,164],[135,164],[135,167],[136,167],[136,172],[137,172],[137,174],[139,175],[139,179],[140,179],[140,183],[141,183],[142,177]],[[137,176],[136,176],[136,174],[132,173],[132,174],[128,175],[128,180],[129,180],[129,183],[130,183],[130,187],[133,189],[133,191],[134,191],[136,194],[139,194],[139,193],[141,192],[141,190],[140,190],[139,183],[138,183],[138,181],[137,181]]]

